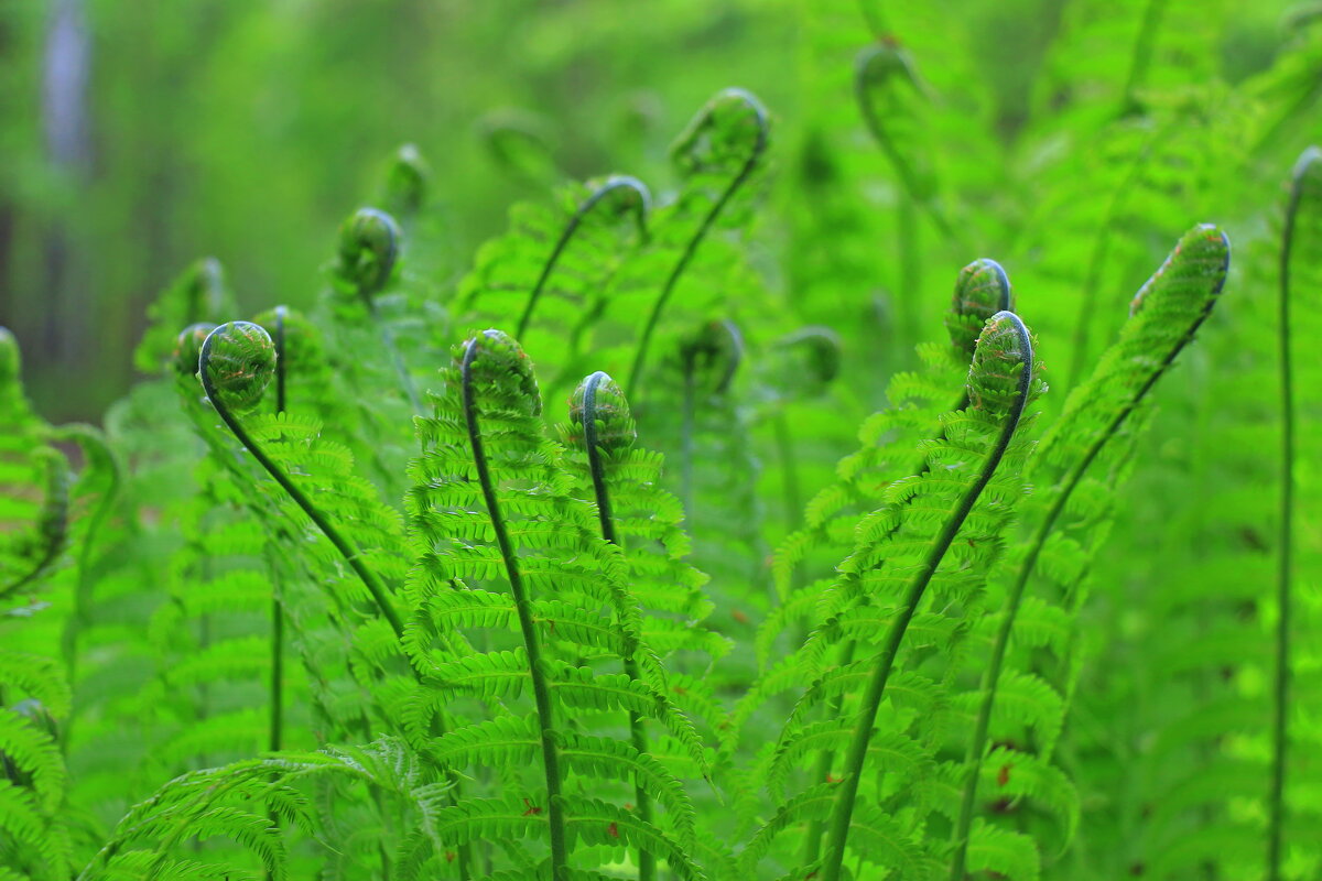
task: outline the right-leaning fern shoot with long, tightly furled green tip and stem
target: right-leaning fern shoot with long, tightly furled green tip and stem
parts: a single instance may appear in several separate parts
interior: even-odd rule
[[[970,767],[964,779],[960,815],[953,829],[952,881],[962,881],[965,877],[969,833],[988,752],[988,729],[1025,588],[1089,466],[1107,444],[1121,433],[1211,313],[1228,265],[1229,243],[1220,230],[1204,225],[1185,234],[1175,251],[1134,297],[1134,316],[1120,341],[1103,357],[1093,376],[1071,395],[1060,421],[1043,440],[1039,457],[1047,462],[1067,458],[1068,470],[1048,490],[1048,497],[1054,497],[1051,507],[1038,524],[1029,551],[1015,571],[984,674],[968,753]]]

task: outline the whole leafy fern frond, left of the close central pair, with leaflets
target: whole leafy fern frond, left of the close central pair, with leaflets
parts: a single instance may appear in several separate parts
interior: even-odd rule
[[[570,877],[575,861],[604,844],[587,819],[599,808],[575,789],[588,781],[602,786],[603,778],[632,781],[635,793],[641,787],[652,804],[666,807],[681,841],[672,843],[656,818],[613,818],[605,837],[681,870],[674,848],[691,836],[693,816],[669,769],[669,746],[649,738],[644,753],[588,732],[603,724],[613,732],[625,717],[654,720],[699,767],[702,745],[644,641],[620,548],[602,538],[563,450],[543,436],[531,363],[513,339],[488,330],[456,350],[444,380],[435,415],[418,420],[423,452],[407,497],[416,564],[405,645],[424,688],[412,730],[426,729],[432,707],[459,701],[488,719],[420,742],[438,761],[457,770],[500,766],[508,756],[542,757],[533,766],[537,783],[525,783],[521,762],[504,773],[512,779],[501,799],[457,800],[456,840],[501,841],[531,860],[529,866],[533,855],[509,839],[550,840],[554,877]],[[608,672],[621,663],[627,672]],[[535,715],[510,717],[529,689]],[[520,795],[509,795],[509,783]],[[512,804],[520,819],[506,824],[501,818]]]

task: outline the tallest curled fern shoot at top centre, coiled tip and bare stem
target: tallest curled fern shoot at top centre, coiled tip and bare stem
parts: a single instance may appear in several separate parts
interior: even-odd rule
[[[742,164],[738,170],[730,178],[730,182],[724,186],[717,199],[713,202],[711,209],[702,218],[698,229],[694,230],[693,235],[685,243],[683,251],[681,251],[680,258],[676,260],[674,265],[670,268],[665,283],[661,285],[661,292],[657,299],[652,302],[652,309],[648,313],[646,322],[642,325],[642,333],[639,337],[637,349],[633,354],[633,363],[629,367],[628,379],[624,383],[625,398],[633,398],[639,383],[642,380],[642,371],[646,367],[648,350],[652,346],[652,337],[656,334],[658,322],[661,321],[661,314],[665,312],[666,304],[670,301],[674,293],[676,285],[683,276],[685,269],[693,262],[694,255],[698,252],[698,247],[706,239],[707,232],[715,225],[717,218],[726,209],[735,194],[743,188],[743,185],[752,177],[752,173],[758,169],[761,161],[763,153],[767,149],[767,140],[769,133],[769,122],[767,119],[767,111],[751,92],[743,88],[727,88],[707,102],[698,115],[689,123],[676,145],[672,148],[672,153],[676,160],[685,166],[685,170],[698,170],[705,161],[711,162],[724,162],[730,161],[730,156],[717,156],[711,160],[699,159],[695,153],[697,147],[707,139],[713,139],[719,135],[722,129],[739,131],[747,127],[752,127],[754,136],[752,143],[747,147],[747,153],[743,156]],[[738,141],[736,141],[738,143]]]

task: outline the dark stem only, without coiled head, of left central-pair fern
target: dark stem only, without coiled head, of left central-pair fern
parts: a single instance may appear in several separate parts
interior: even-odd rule
[[[555,717],[551,713],[551,691],[546,682],[546,668],[542,664],[542,645],[537,637],[537,625],[533,622],[531,602],[529,601],[527,590],[524,588],[524,579],[518,569],[518,556],[513,543],[509,540],[509,531],[505,528],[500,499],[496,498],[496,485],[492,481],[486,453],[483,449],[483,432],[477,423],[477,403],[473,394],[473,359],[477,357],[479,342],[481,339],[481,335],[476,335],[464,347],[464,361],[460,374],[464,421],[468,427],[468,442],[473,450],[477,481],[483,487],[483,499],[486,502],[486,512],[490,516],[492,531],[496,534],[496,544],[500,547],[501,557],[505,560],[505,575],[509,577],[509,589],[514,596],[518,626],[522,630],[524,647],[527,651],[527,668],[533,683],[533,699],[537,703],[537,717],[542,738],[542,761],[546,771],[547,819],[551,836],[551,881],[563,881],[568,853],[564,839],[564,808],[561,803],[561,762],[559,752],[555,746]]]

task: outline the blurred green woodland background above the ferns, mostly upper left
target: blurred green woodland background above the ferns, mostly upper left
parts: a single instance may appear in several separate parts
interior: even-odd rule
[[[1236,5],[1218,59],[1231,82],[1270,63],[1285,4]],[[981,88],[1011,143],[1067,0],[933,7],[984,36]],[[783,166],[809,111],[791,62],[813,15],[796,0],[0,5],[0,324],[38,408],[95,419],[132,380],[145,304],[190,260],[218,258],[245,309],[307,302],[336,226],[402,143],[435,172],[438,284],[559,178],[619,170],[664,190],[666,144],[723,86],[771,107]],[[545,153],[516,140],[501,161],[493,144],[510,144],[489,132],[512,128]],[[792,211],[793,195],[773,203]]]

